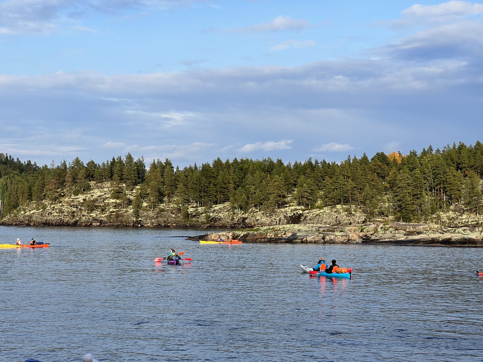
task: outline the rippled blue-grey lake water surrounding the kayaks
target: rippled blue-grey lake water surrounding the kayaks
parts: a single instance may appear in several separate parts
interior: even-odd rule
[[[483,361],[483,249],[181,237],[205,231],[0,227],[51,243],[0,249],[0,361]],[[301,273],[321,256],[352,280]]]

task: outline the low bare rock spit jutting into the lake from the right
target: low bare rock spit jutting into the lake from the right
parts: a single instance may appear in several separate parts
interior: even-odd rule
[[[366,223],[351,226],[292,224],[190,237],[216,240],[228,236],[242,242],[332,243],[483,247],[482,227],[443,227],[436,224]]]

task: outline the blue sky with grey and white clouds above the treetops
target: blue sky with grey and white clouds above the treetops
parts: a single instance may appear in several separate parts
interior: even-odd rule
[[[185,166],[483,138],[483,3],[0,0],[0,152]]]

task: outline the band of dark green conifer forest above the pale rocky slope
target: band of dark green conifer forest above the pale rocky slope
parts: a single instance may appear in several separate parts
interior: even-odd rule
[[[153,160],[146,168],[130,153],[98,164],[76,157],[55,165],[38,166],[0,153],[0,200],[3,216],[17,208],[63,196],[83,194],[93,182],[110,182],[111,197],[120,205],[143,208],[163,203],[180,208],[211,207],[230,202],[233,210],[273,211],[296,203],[301,209],[333,205],[362,207],[368,220],[392,217],[411,222],[457,206],[478,214],[483,209],[483,144],[460,142],[421,153],[376,153],[350,156],[341,163],[312,160],[285,164],[271,158],[247,158],[180,169],[169,159]],[[126,192],[136,190],[134,199]]]

